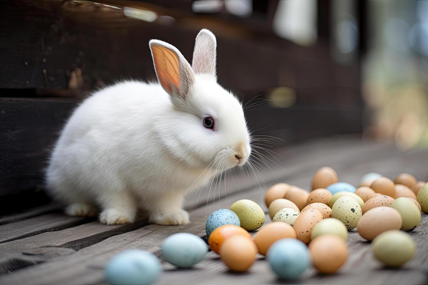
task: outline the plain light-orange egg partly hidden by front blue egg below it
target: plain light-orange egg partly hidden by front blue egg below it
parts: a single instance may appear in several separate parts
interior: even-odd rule
[[[270,245],[281,238],[296,238],[296,232],[288,223],[278,221],[268,223],[259,229],[253,241],[259,249],[259,253],[266,255]]]

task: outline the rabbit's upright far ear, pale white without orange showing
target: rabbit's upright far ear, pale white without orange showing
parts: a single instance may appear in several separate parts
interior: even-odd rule
[[[196,36],[193,50],[192,68],[196,74],[216,76],[216,49],[217,41],[212,32],[202,29]]]

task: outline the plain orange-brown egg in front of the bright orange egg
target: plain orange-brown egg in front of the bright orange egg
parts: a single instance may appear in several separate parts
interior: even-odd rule
[[[254,241],[243,235],[228,238],[220,248],[221,260],[233,271],[245,271],[250,268],[256,260],[256,254],[257,247]]]

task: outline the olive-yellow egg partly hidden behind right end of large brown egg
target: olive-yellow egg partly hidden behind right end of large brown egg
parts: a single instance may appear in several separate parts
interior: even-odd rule
[[[421,212],[412,200],[406,197],[399,197],[391,203],[392,208],[397,210],[403,218],[401,229],[407,231],[413,229],[421,222]]]

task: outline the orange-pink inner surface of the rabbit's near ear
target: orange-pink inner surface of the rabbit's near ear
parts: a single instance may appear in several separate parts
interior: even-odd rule
[[[172,94],[173,89],[178,90],[180,82],[177,55],[172,50],[160,45],[152,46],[152,55],[160,85]]]

